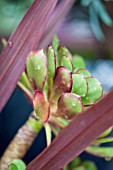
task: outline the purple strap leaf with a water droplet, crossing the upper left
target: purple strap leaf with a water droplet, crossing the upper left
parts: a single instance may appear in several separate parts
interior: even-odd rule
[[[57,0],[35,0],[0,55],[0,111],[25,68],[28,53],[37,47]]]

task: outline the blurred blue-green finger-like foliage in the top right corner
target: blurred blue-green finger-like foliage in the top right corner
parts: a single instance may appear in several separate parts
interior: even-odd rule
[[[105,36],[102,31],[100,21],[101,21],[111,27],[113,26],[113,21],[108,12],[106,11],[106,8],[103,4],[104,1],[102,0],[81,0],[81,5],[84,7],[89,8],[89,20],[90,20],[90,26],[92,28],[92,31],[99,41],[104,41]]]

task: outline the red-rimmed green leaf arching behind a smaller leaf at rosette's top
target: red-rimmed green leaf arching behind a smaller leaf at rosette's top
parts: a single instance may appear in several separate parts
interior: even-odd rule
[[[70,59],[70,61],[72,61],[72,55],[69,52],[69,50],[66,47],[60,46],[58,49],[59,63],[61,62],[61,58],[63,55],[67,56]]]

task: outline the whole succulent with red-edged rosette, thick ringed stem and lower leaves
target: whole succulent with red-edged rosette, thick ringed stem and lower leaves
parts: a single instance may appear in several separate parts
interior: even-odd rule
[[[34,111],[4,152],[1,158],[3,170],[7,169],[9,162],[12,161],[9,166],[11,168],[14,159],[24,157],[43,126],[49,145],[51,131],[57,135],[74,116],[84,112],[101,98],[103,90],[100,82],[85,67],[83,58],[79,55],[72,56],[66,47],[60,46],[56,35],[52,45],[46,50],[31,51],[18,86],[33,103]],[[112,128],[102,134],[86,151],[111,158],[113,151],[109,150],[112,148],[99,147],[101,143],[113,141],[113,138],[105,138],[111,130]],[[20,161],[16,161],[15,166],[18,167],[19,163]],[[87,170],[87,167],[96,169],[92,162],[81,162],[77,158],[64,169]]]

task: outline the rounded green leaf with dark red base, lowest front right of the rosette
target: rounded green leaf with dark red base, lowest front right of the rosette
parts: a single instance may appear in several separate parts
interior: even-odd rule
[[[81,97],[73,93],[63,93],[58,100],[57,114],[66,119],[83,111]]]

